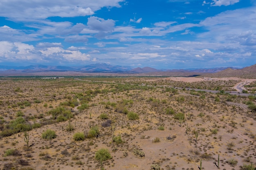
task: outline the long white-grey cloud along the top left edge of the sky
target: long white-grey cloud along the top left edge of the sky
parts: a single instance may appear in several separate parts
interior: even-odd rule
[[[92,15],[102,7],[120,7],[123,0],[20,0],[1,1],[0,16],[11,20],[46,19],[48,17],[75,17]],[[13,5],[19,4],[19,5]],[[11,11],[11,12],[10,12]]]

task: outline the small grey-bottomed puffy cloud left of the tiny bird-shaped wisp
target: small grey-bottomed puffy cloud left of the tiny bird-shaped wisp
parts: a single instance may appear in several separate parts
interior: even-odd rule
[[[90,29],[96,31],[113,31],[115,21],[111,19],[104,20],[103,18],[91,16],[88,18],[87,25]]]

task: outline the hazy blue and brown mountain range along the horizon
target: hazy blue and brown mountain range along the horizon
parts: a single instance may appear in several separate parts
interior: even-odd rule
[[[52,75],[61,73],[68,75],[72,73],[126,73],[126,74],[150,74],[154,75],[201,75],[204,77],[256,77],[256,64],[245,68],[219,67],[219,68],[190,68],[190,69],[155,69],[151,67],[131,66],[112,66],[110,64],[99,63],[86,66],[46,66],[46,65],[29,65],[29,66],[0,66],[1,75]],[[44,73],[44,74],[42,74]],[[51,74],[50,74],[51,73]],[[188,73],[188,74],[186,74]]]

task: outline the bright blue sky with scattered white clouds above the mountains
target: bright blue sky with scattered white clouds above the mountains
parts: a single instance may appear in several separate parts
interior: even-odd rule
[[[1,0],[0,65],[256,64],[256,0]]]

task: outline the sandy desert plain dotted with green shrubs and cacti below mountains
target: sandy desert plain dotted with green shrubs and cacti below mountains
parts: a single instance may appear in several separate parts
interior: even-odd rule
[[[256,79],[1,77],[0,91],[1,170],[256,167]]]

